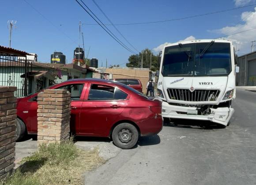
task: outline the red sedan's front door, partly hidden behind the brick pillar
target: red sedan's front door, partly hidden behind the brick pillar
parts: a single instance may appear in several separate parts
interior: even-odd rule
[[[70,131],[72,133],[80,132],[80,111],[83,103],[83,98],[86,92],[86,86],[87,83],[70,83],[54,88],[67,89],[71,94]]]

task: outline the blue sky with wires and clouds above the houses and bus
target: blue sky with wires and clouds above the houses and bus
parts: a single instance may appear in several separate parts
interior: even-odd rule
[[[73,51],[78,47],[78,22],[95,23],[75,0],[0,0],[0,45],[8,46],[8,20],[16,20],[11,47],[37,53],[38,60],[50,62],[54,51],[63,52],[72,62]],[[102,20],[109,23],[92,0],[84,0],[88,7]],[[161,21],[204,14],[213,11],[245,6],[255,0],[96,0],[113,23]],[[256,27],[256,7],[189,18],[158,24],[117,26],[127,40],[139,51],[144,48],[158,52],[158,46],[186,38],[208,39]],[[52,22],[54,26],[49,22]],[[128,47],[112,26],[109,29]],[[132,53],[122,48],[97,25],[83,25],[85,49],[90,47],[89,58],[99,59],[99,66],[108,59],[109,64],[123,64]],[[256,30],[227,37],[237,44],[240,53],[250,51],[250,41],[256,40]],[[82,41],[81,41],[82,44]],[[160,47],[161,48],[161,47]],[[239,54],[238,52],[238,54]]]

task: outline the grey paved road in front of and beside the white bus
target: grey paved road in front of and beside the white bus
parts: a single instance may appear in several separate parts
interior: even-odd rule
[[[255,185],[256,93],[237,90],[233,107],[226,129],[165,124],[157,136],[87,173],[85,184]]]

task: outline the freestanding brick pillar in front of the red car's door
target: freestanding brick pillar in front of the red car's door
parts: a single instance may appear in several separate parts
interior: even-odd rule
[[[63,143],[70,133],[70,93],[45,89],[38,93],[38,145]]]

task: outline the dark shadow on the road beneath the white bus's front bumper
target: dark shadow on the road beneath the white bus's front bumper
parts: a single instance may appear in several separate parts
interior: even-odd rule
[[[171,119],[170,121],[164,120],[163,126],[186,128],[186,129],[224,129],[226,126],[217,124],[210,121],[192,120],[192,119]]]

